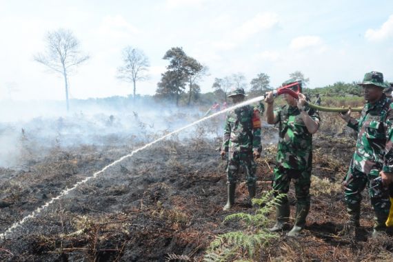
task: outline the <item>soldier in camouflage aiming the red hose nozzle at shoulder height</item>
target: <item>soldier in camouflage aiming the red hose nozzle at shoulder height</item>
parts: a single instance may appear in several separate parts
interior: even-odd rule
[[[301,87],[301,81],[296,81]],[[295,81],[286,81],[290,85]],[[301,91],[301,90],[300,90]],[[290,181],[294,181],[296,192],[295,223],[288,236],[298,236],[305,226],[305,218],[310,210],[310,183],[312,169],[312,134],[319,129],[319,114],[305,105],[305,95],[299,93],[296,101],[289,94],[283,94],[287,105],[273,111],[274,98],[269,92],[265,102],[268,123],[279,123],[279,144],[277,146],[276,168],[274,168],[273,189],[276,194],[286,194]],[[276,205],[276,223],[272,232],[283,230],[288,225],[290,205],[288,198]]]

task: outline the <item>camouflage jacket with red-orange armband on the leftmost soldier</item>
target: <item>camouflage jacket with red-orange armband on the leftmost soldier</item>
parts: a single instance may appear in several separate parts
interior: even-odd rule
[[[245,105],[228,112],[222,148],[225,152],[261,152],[261,119],[258,110]]]

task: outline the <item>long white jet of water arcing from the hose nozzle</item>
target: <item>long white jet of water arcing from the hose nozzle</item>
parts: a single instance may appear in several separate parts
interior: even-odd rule
[[[138,148],[137,150],[132,151],[130,154],[127,154],[127,155],[121,157],[120,159],[117,159],[116,161],[110,163],[109,165],[106,165],[103,169],[101,169],[101,170],[99,170],[98,172],[95,172],[94,174],[92,174],[91,177],[86,177],[85,179],[83,179],[83,180],[81,180],[81,181],[75,183],[75,184],[72,186],[72,188],[66,188],[66,189],[64,189],[63,191],[61,191],[61,193],[60,193],[58,196],[56,196],[56,197],[50,199],[50,201],[46,202],[44,205],[41,205],[41,207],[39,207],[39,208],[37,208],[36,210],[34,210],[34,211],[33,211],[31,214],[29,214],[28,216],[23,217],[23,219],[21,219],[21,221],[17,221],[17,222],[15,222],[14,224],[12,224],[12,225],[10,226],[10,228],[8,228],[5,232],[3,232],[3,234],[0,234],[0,238],[1,238],[1,239],[4,239],[4,238],[5,238],[6,236],[8,236],[8,234],[10,234],[14,229],[21,227],[21,225],[23,225],[26,221],[28,221],[28,219],[33,219],[35,216],[37,216],[37,214],[41,213],[43,210],[45,210],[46,208],[48,208],[49,205],[51,205],[52,203],[54,203],[54,201],[57,201],[57,200],[61,199],[61,197],[63,197],[63,196],[66,196],[67,194],[69,194],[70,192],[72,192],[73,190],[75,190],[76,188],[78,188],[79,185],[82,185],[82,184],[84,184],[84,183],[87,183],[87,182],[90,181],[91,179],[95,179],[96,177],[99,176],[99,174],[103,173],[103,172],[104,172],[105,170],[107,170],[108,168],[110,168],[110,167],[112,167],[112,166],[114,166],[114,165],[117,165],[118,163],[120,163],[120,162],[123,161],[124,159],[128,159],[129,157],[132,157],[135,153],[137,153],[137,152],[139,152],[139,151],[141,151],[141,150],[144,150],[145,148],[150,147],[150,145],[153,145],[154,143],[157,143],[157,142],[159,142],[159,141],[161,141],[161,140],[163,140],[163,139],[166,139],[167,137],[172,136],[172,134],[176,134],[176,133],[178,133],[178,132],[181,132],[181,131],[183,131],[183,130],[185,130],[185,129],[187,129],[187,128],[190,128],[190,127],[192,127],[193,125],[196,125],[196,124],[198,124],[198,123],[201,123],[201,122],[203,122],[203,121],[205,121],[205,120],[207,120],[207,119],[210,119],[210,118],[212,118],[212,117],[216,117],[216,116],[218,116],[219,114],[223,114],[223,113],[228,112],[228,111],[230,111],[230,110],[234,110],[235,108],[241,108],[242,106],[244,106],[244,105],[249,105],[250,103],[256,103],[256,102],[261,101],[261,100],[263,100],[263,99],[265,99],[265,96],[255,97],[255,98],[253,98],[253,99],[250,99],[250,100],[247,100],[247,101],[243,101],[243,102],[241,102],[241,103],[238,103],[238,104],[236,104],[236,105],[233,105],[233,106],[230,107],[230,108],[226,108],[226,109],[221,110],[221,111],[219,111],[219,112],[215,112],[214,114],[211,114],[211,115],[208,116],[208,117],[203,117],[202,119],[199,119],[199,120],[197,120],[197,121],[194,121],[193,123],[190,123],[190,124],[188,124],[188,125],[183,126],[183,128],[179,128],[178,130],[174,130],[173,132],[170,132],[170,133],[168,133],[168,134],[165,134],[163,137],[160,137],[160,138],[157,139],[157,140],[154,140],[154,141],[152,141],[152,142],[150,142],[150,143],[148,143],[148,144],[146,144],[146,145],[143,145],[143,147]]]

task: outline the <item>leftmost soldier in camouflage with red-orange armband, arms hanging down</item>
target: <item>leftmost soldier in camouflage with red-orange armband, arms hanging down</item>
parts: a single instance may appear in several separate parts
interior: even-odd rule
[[[228,95],[232,101],[241,103],[244,100],[243,88],[232,90]],[[254,158],[261,155],[261,120],[259,111],[245,105],[228,112],[225,119],[221,157],[228,153],[226,169],[228,179],[228,201],[223,210],[229,210],[234,204],[234,192],[238,180],[240,165],[245,166],[245,173],[250,199],[256,192],[256,163]]]

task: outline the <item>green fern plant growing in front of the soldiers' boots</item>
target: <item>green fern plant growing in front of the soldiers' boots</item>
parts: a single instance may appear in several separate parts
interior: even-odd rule
[[[254,205],[259,205],[255,214],[236,213],[226,216],[223,223],[237,220],[243,230],[216,236],[203,261],[249,261],[261,254],[264,246],[279,237],[268,230],[268,216],[284,196],[279,194],[274,197],[274,191],[268,191],[260,199],[252,199]]]

